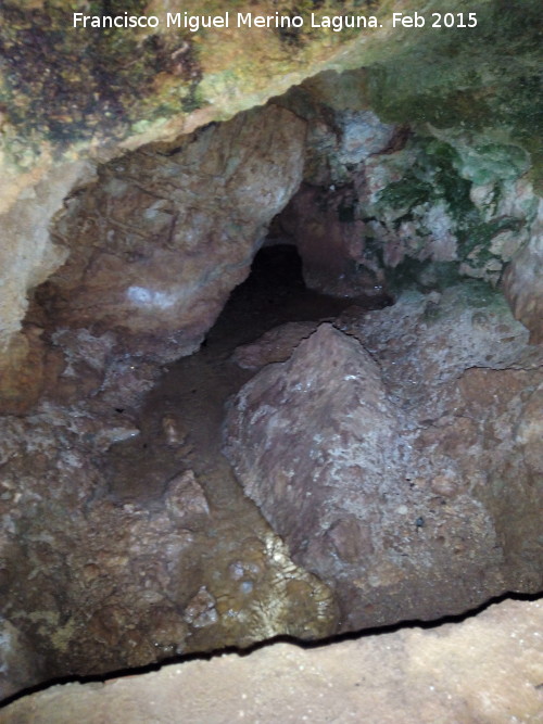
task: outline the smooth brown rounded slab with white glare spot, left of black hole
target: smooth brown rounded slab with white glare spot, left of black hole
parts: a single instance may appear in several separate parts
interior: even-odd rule
[[[269,105],[101,167],[54,228],[70,257],[38,294],[48,323],[112,330],[121,353],[193,352],[298,188],[304,138]]]

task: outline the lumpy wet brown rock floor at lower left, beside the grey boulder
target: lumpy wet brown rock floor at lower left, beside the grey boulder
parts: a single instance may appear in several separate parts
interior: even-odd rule
[[[181,465],[161,419],[148,454],[130,410],[109,401],[0,417],[0,699],[52,677],[334,631],[328,588],[290,560],[231,473],[207,463],[197,479]]]

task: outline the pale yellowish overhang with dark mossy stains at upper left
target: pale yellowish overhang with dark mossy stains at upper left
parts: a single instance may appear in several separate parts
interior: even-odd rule
[[[219,5],[217,13],[228,10]],[[65,261],[49,227],[98,164],[265,103],[332,65],[349,40],[341,34],[330,43],[329,33],[312,31],[289,47],[275,31],[167,28],[166,13],[195,15],[195,0],[157,0],[147,9],[157,28],[110,34],[73,28],[64,0],[10,0],[2,10],[1,353],[20,330],[28,293]],[[244,10],[254,12],[251,3]],[[276,7],[265,0],[258,10]]]

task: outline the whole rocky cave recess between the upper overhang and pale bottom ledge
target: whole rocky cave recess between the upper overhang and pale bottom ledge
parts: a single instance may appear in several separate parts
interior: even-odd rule
[[[382,120],[365,84],[64,199],[2,415],[3,696],[541,594],[527,154]]]

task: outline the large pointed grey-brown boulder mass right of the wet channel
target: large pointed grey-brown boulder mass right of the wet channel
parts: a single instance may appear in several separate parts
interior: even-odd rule
[[[468,285],[354,308],[241,390],[227,455],[343,630],[541,589],[541,365]]]

